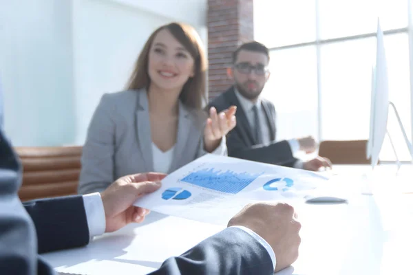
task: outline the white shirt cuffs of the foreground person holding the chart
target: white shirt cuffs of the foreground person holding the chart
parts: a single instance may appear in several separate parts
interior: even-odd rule
[[[87,228],[89,228],[89,238],[93,239],[94,236],[105,233],[106,229],[105,209],[103,208],[103,201],[100,197],[100,193],[94,192],[91,194],[83,195],[83,204],[85,205]],[[271,261],[273,261],[273,269],[275,269],[277,259],[275,258],[273,248],[271,248],[271,245],[269,245],[266,240],[264,240],[257,233],[253,232],[253,230],[244,226],[231,227],[244,230],[246,233],[250,234],[258,243],[260,243],[270,255]]]

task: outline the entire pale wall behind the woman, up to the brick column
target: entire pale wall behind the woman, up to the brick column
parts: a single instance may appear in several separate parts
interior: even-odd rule
[[[0,0],[0,6],[5,127],[19,146],[83,144],[100,97],[125,87],[160,25],[190,23],[207,45],[206,0]]]

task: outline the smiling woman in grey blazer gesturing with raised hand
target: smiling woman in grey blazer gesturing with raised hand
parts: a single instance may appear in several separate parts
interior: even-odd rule
[[[235,108],[202,110],[207,59],[190,25],[170,23],[138,56],[127,91],[105,94],[83,146],[78,192],[100,192],[123,175],[170,173],[206,154],[226,155]]]

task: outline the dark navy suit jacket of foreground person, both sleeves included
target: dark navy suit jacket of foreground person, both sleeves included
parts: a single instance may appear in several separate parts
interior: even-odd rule
[[[54,274],[39,253],[86,245],[89,232],[81,196],[23,205],[17,196],[21,166],[0,126],[0,274]],[[273,274],[265,248],[238,228],[228,228],[167,259],[153,275]]]

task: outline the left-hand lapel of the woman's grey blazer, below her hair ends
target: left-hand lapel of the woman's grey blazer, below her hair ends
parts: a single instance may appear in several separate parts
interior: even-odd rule
[[[136,131],[138,148],[145,162],[147,171],[153,171],[151,123],[146,89],[138,92],[138,108],[136,110]]]

